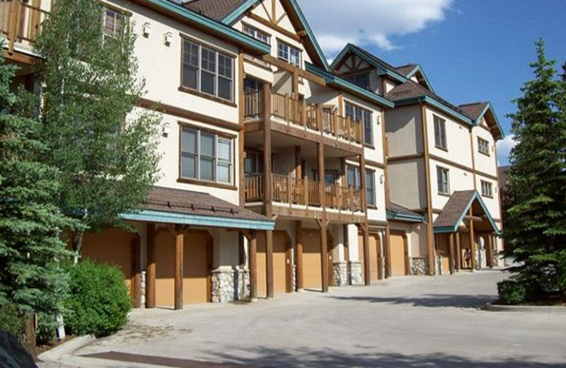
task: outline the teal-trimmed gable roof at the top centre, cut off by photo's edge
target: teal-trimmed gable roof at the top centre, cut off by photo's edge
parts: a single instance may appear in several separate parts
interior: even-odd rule
[[[197,0],[199,3],[214,3],[214,6],[212,4],[208,6],[204,6],[204,4],[202,4],[200,7],[209,11],[210,16],[220,17],[220,14],[222,14],[223,16],[221,16],[221,19],[219,20],[226,25],[233,25],[236,23],[238,19],[246,14],[250,8],[258,5],[260,1],[262,0]],[[299,4],[296,0],[283,0],[281,1],[281,4],[297,31],[304,30],[306,33],[306,40],[308,42],[306,42],[305,47],[309,54],[315,56],[313,61],[318,64],[318,67],[322,67],[325,71],[330,71],[326,57],[324,56],[320,45],[318,45],[318,41],[314,37],[313,30],[311,29],[311,26],[308,25],[308,21],[306,21],[306,17],[304,16],[303,11],[301,11]]]

